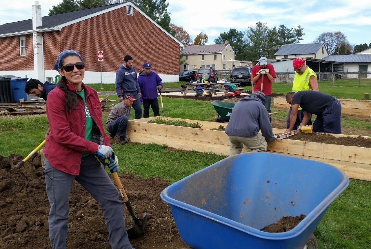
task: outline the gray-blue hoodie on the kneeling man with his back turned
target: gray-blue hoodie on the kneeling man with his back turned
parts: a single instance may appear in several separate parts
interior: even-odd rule
[[[258,134],[259,130],[262,131],[266,141],[275,140],[266,108],[255,94],[250,94],[234,105],[226,127],[226,134],[252,138]]]

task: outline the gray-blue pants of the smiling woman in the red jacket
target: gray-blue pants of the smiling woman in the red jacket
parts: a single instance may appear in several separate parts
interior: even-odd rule
[[[101,209],[109,232],[109,245],[114,249],[131,249],[128,233],[125,230],[124,212],[118,191],[106,171],[93,155],[81,159],[80,175],[70,175],[59,171],[45,159],[46,193],[50,203],[49,239],[52,249],[65,249],[67,221],[69,213],[68,196],[73,180],[76,180]]]

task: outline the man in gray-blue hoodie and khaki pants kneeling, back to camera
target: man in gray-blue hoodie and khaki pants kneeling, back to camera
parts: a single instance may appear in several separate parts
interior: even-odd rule
[[[240,99],[233,107],[225,131],[230,141],[231,156],[240,154],[243,144],[251,151],[265,152],[268,147],[267,141],[277,138],[273,135],[269,113],[263,105],[264,101],[264,93],[256,91]]]

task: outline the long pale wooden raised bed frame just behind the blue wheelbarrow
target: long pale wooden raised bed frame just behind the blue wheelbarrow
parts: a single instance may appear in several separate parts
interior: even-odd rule
[[[183,120],[198,122],[202,128],[179,127],[148,123],[150,120]],[[152,117],[129,120],[128,134],[132,142],[142,144],[165,144],[169,147],[187,151],[212,152],[217,155],[229,155],[229,139],[224,131],[212,130],[227,123],[184,120],[179,118]],[[285,132],[284,129],[273,129],[274,134]],[[333,134],[335,137],[357,137],[352,135]],[[371,138],[371,137],[365,137]],[[242,152],[249,152],[243,148]],[[268,142],[268,152],[307,158],[334,165],[345,172],[349,178],[371,181],[371,148],[335,144],[321,144],[293,139],[276,139]],[[310,165],[308,165],[310,166]]]

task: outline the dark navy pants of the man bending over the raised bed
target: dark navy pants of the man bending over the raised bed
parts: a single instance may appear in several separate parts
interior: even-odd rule
[[[322,115],[317,115],[313,131],[341,134],[341,104],[336,98]]]

